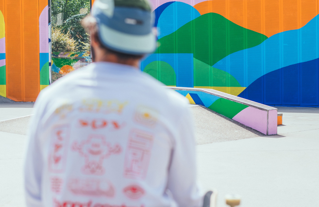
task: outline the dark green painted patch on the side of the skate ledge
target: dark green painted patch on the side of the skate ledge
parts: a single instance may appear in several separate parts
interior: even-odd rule
[[[225,98],[217,99],[211,106],[208,108],[216,111],[217,113],[233,119],[239,112],[246,109],[248,106],[234,101],[227,100]]]

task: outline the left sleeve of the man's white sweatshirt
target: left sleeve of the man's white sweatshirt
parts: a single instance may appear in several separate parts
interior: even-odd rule
[[[29,125],[28,142],[24,163],[24,189],[27,207],[43,207],[41,202],[41,179],[43,155],[39,143],[41,121],[40,103],[34,106],[34,115]]]

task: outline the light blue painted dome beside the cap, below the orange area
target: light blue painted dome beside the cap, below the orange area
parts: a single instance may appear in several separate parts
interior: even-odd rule
[[[200,13],[191,5],[174,2],[165,8],[158,19],[158,38],[172,34],[186,23],[196,19]]]

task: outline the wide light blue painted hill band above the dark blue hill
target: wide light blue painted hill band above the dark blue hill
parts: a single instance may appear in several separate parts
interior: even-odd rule
[[[296,48],[299,50],[297,57],[296,54],[289,53]],[[262,61],[261,56],[263,56]],[[246,61],[235,64],[230,62],[242,57],[246,57]],[[275,34],[260,45],[228,55],[213,67],[233,75],[242,87],[248,87],[267,73],[316,58],[318,58],[318,15],[298,30]]]

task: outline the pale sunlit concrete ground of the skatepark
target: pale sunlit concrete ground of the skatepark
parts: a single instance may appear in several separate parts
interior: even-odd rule
[[[25,206],[23,134],[32,105],[0,104],[0,121],[13,119],[0,122],[0,207]],[[219,207],[225,206],[225,194],[232,193],[242,196],[243,207],[319,204],[319,108],[279,107],[284,125],[274,136],[262,136],[200,106],[191,111],[198,177],[205,190],[218,190]]]

